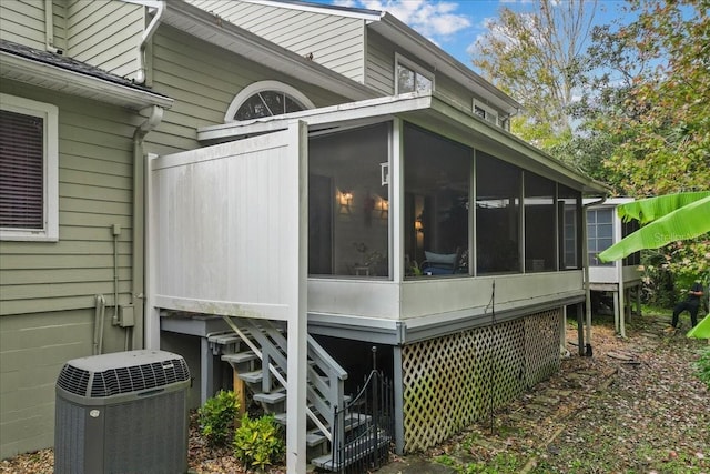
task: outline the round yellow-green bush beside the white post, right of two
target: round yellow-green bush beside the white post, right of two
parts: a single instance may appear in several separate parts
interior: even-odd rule
[[[283,460],[284,440],[281,426],[274,415],[251,420],[242,417],[242,424],[234,434],[234,455],[245,467],[264,470]]]

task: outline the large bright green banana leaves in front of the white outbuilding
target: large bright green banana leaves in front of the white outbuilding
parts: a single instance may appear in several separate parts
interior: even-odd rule
[[[693,239],[709,233],[710,192],[684,194],[694,196],[696,200],[688,202],[686,199],[680,198],[681,194],[671,194],[620,205],[618,212],[625,219],[636,219],[635,215],[645,219],[647,222],[649,222],[650,215],[656,219],[601,252],[599,260],[611,262],[623,259],[639,250],[658,249],[671,242]],[[665,198],[669,199],[666,200]],[[653,202],[649,204],[642,201]],[[673,206],[676,206],[674,210]]]

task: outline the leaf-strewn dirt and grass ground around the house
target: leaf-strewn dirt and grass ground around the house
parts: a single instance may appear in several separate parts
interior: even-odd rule
[[[694,369],[708,343],[668,335],[667,324],[668,316],[637,316],[622,340],[612,321],[595,316],[592,356],[570,343],[560,372],[494,413],[493,424],[426,453],[393,455],[379,474],[710,473],[710,390]],[[576,341],[576,325],[567,334]],[[192,473],[246,472],[227,450],[205,447],[194,426],[189,444]],[[0,462],[0,474],[52,470],[52,450]]]

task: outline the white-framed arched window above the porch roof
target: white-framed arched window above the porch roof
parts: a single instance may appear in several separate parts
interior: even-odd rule
[[[295,88],[278,81],[254,82],[234,97],[224,122],[281,115],[314,109],[311,100]]]

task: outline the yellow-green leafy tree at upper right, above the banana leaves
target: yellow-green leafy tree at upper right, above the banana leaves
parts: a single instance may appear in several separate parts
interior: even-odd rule
[[[706,190],[710,183],[710,0],[631,0],[638,19],[612,37],[618,63],[638,68],[618,111],[595,122],[618,138],[606,161],[628,195]],[[631,70],[626,64],[627,70]]]

